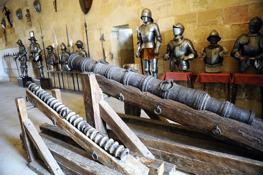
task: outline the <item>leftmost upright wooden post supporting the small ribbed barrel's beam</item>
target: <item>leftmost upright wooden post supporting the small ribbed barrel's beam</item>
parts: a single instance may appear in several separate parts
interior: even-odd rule
[[[26,131],[23,125],[23,121],[28,119],[25,99],[22,97],[16,98],[16,105],[17,105],[17,110],[18,110],[20,126],[22,130],[22,136],[23,136],[23,140],[25,143],[24,145],[25,145],[26,153],[27,153],[29,162],[32,162],[36,159],[36,153],[35,153],[35,148],[32,142],[27,137],[27,134],[26,134]]]

